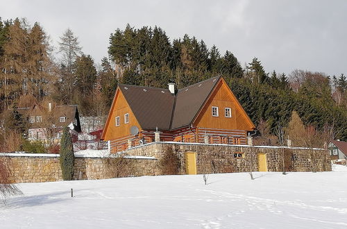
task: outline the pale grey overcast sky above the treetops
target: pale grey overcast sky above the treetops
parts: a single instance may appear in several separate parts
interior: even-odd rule
[[[95,62],[126,24],[160,26],[232,51],[244,67],[253,57],[266,71],[294,69],[347,74],[347,1],[16,1],[1,0],[0,17],[40,22],[57,46],[67,29]]]

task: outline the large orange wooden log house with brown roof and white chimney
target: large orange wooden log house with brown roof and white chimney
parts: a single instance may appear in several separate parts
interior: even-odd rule
[[[101,139],[112,152],[155,141],[246,144],[255,126],[220,77],[177,90],[119,84]],[[158,139],[157,139],[158,140]]]

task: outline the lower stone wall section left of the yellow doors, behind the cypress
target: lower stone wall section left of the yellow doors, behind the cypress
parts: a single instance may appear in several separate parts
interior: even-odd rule
[[[37,154],[26,156],[1,154],[8,165],[12,183],[37,183],[62,180],[59,155]],[[158,175],[157,160],[122,158],[75,158],[74,180],[115,178],[117,176]]]

